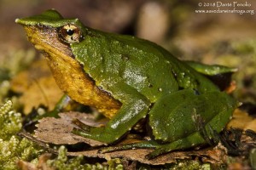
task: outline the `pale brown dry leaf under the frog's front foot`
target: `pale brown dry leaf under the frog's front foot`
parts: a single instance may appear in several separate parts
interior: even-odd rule
[[[72,133],[75,125],[72,123],[74,118],[90,126],[97,126],[98,123],[93,121],[93,116],[79,112],[60,113],[61,118],[45,117],[41,119],[35,130],[35,138],[51,144],[78,144],[86,143],[91,146],[102,145],[101,142],[85,139]]]

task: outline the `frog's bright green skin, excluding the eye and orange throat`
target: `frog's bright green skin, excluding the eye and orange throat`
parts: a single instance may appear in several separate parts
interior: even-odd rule
[[[171,150],[205,144],[197,118],[203,120],[207,133],[220,132],[237,107],[235,99],[220,92],[201,74],[234,71],[230,68],[186,63],[154,42],[96,31],[78,19],[63,19],[55,10],[16,22],[26,26],[78,26],[83,38],[70,42],[75,59],[96,86],[121,102],[121,108],[105,127],[84,125],[84,129],[74,129],[74,133],[111,144],[148,116],[153,139],[102,151],[154,148],[147,156],[153,158]]]

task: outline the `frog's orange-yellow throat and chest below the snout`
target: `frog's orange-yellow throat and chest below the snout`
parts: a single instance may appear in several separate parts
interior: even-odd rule
[[[72,99],[83,105],[90,105],[111,118],[121,104],[111,94],[96,87],[95,82],[87,75],[82,65],[73,58],[71,48],[58,38],[54,28],[25,26],[26,34],[48,61],[55,82]]]

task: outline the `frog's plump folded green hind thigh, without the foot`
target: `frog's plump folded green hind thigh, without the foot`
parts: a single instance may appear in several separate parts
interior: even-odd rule
[[[235,105],[234,99],[218,91],[197,95],[194,90],[184,89],[167,94],[154,104],[149,112],[149,125],[154,138],[165,142],[183,139],[194,133],[195,116],[200,116],[219,132],[230,120]]]

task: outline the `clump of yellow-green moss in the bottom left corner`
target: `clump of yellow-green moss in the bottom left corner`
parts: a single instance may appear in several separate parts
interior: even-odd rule
[[[16,136],[21,129],[21,115],[11,109],[10,100],[0,107],[0,169],[17,169],[20,159],[34,161],[40,154],[35,144]]]

